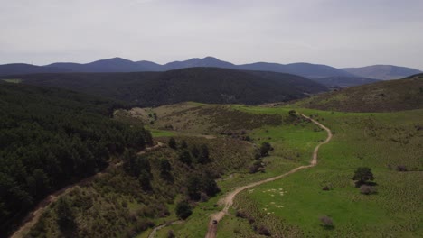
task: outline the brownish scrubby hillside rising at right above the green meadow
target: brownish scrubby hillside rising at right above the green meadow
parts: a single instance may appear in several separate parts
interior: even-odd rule
[[[350,87],[302,100],[299,106],[342,112],[393,112],[423,108],[423,74]]]

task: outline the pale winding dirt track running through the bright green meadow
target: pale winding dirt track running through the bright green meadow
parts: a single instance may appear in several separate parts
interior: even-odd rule
[[[301,170],[301,169],[308,169],[308,168],[311,168],[311,167],[315,167],[315,165],[317,164],[317,154],[318,154],[319,148],[320,148],[320,146],[322,144],[325,144],[325,143],[329,142],[332,139],[332,132],[331,132],[331,130],[329,128],[327,128],[323,124],[320,124],[320,123],[316,122],[315,120],[311,119],[310,117],[306,116],[305,114],[300,114],[300,115],[303,116],[303,117],[305,117],[306,119],[311,120],[314,124],[317,124],[319,127],[321,127],[322,129],[324,129],[327,132],[327,138],[326,138],[326,140],[324,142],[319,143],[315,147],[315,151],[313,151],[313,156],[312,156],[312,160],[310,161],[310,164],[309,165],[305,165],[305,166],[297,167],[296,169],[292,169],[292,170],[288,171],[287,173],[282,174],[282,175],[279,175],[277,177],[267,178],[267,179],[260,180],[258,182],[254,182],[254,183],[251,183],[249,185],[246,185],[246,186],[243,186],[243,187],[240,187],[240,188],[236,188],[235,190],[233,190],[232,192],[230,192],[226,197],[223,197],[221,199],[221,201],[220,201],[221,204],[224,204],[223,209],[220,212],[211,215],[211,219],[210,219],[209,226],[208,226],[209,228],[208,228],[208,231],[207,231],[207,233],[205,235],[206,238],[214,238],[214,237],[216,237],[217,224],[213,224],[213,220],[216,220],[216,221],[219,222],[221,220],[221,218],[223,218],[224,215],[228,214],[228,210],[229,210],[230,206],[232,206],[232,204],[233,204],[233,199],[241,191],[243,191],[245,189],[248,189],[248,188],[256,187],[258,185],[261,185],[261,184],[264,184],[264,183],[267,183],[267,182],[275,181],[275,180],[277,180],[279,178],[284,178],[284,177],[286,177],[286,176],[288,176],[290,174],[293,174],[296,171]]]

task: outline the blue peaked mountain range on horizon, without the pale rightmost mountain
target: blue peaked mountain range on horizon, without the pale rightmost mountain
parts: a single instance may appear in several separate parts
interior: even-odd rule
[[[112,58],[101,59],[94,62],[79,63],[52,63],[46,66],[31,66],[25,64],[15,65],[10,69],[7,65],[0,65],[0,76],[14,74],[29,74],[41,72],[144,72],[144,71],[167,71],[173,69],[186,69],[193,67],[211,67],[223,69],[245,69],[258,71],[273,71],[300,75],[306,78],[322,77],[353,77],[353,74],[341,69],[335,69],[326,65],[310,63],[278,64],[268,62],[256,62],[251,64],[235,65],[213,57],[203,59],[193,58],[183,61],[169,62],[164,65],[151,61],[131,61],[128,59]],[[54,69],[54,70],[53,70]],[[45,71],[42,71],[45,70]]]

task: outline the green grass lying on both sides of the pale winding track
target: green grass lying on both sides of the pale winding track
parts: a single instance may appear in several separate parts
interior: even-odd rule
[[[343,96],[335,99],[340,98]],[[178,128],[172,133],[189,136],[190,133],[207,133],[203,124],[210,120],[216,122],[212,116],[221,116],[207,114],[208,117],[204,117],[205,114],[193,113],[212,109],[215,105],[196,106],[167,106],[153,110],[159,112],[159,121],[172,114],[177,116],[169,122],[175,123],[183,118],[181,122],[188,122],[186,126],[175,123]],[[258,237],[247,219],[235,217],[236,210],[248,211],[256,220],[254,225],[268,227],[275,236],[420,237],[423,234],[420,215],[423,214],[423,188],[419,186],[423,182],[423,130],[418,130],[423,126],[423,110],[340,113],[305,109],[299,105],[227,106],[225,110],[234,109],[248,114],[279,114],[284,120],[278,125],[262,125],[248,131],[256,146],[270,142],[275,148],[264,159],[266,172],[226,171],[218,180],[221,196],[233,188],[309,163],[315,145],[324,140],[326,133],[305,121],[288,122],[287,114],[293,108],[328,126],[334,133],[333,140],[321,147],[316,167],[240,193],[230,209],[230,215],[218,224],[218,237]],[[388,165],[393,169],[388,169]],[[395,168],[399,165],[411,171],[398,172]],[[378,184],[375,195],[365,196],[354,188],[353,172],[362,166],[370,167],[374,173]],[[332,189],[323,191],[325,185]],[[214,206],[219,198],[200,204],[185,223],[166,227],[157,233],[157,237],[165,237],[170,229],[177,236],[202,237],[209,216],[221,210],[221,206]],[[334,220],[334,229],[324,229],[319,221],[322,215]]]

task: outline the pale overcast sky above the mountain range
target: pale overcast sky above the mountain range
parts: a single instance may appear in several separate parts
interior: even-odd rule
[[[0,0],[0,64],[392,64],[423,70],[422,0]]]

